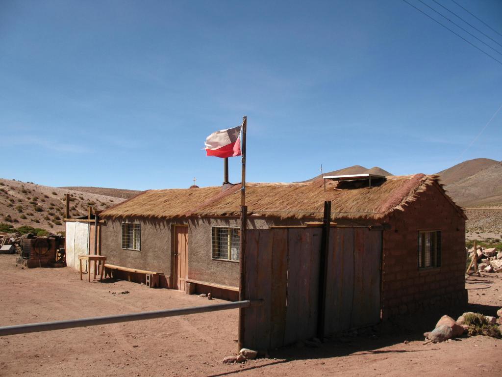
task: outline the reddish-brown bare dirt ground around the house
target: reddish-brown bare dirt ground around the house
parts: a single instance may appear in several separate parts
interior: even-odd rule
[[[0,255],[0,326],[218,303],[126,281],[80,280],[66,268],[21,269]],[[463,311],[494,315],[502,275],[469,277]],[[423,345],[437,314],[389,322],[319,348],[270,350],[222,364],[236,351],[237,310],[0,337],[0,376],[483,376],[502,375],[502,341],[477,336]],[[408,341],[408,342],[405,342]]]

